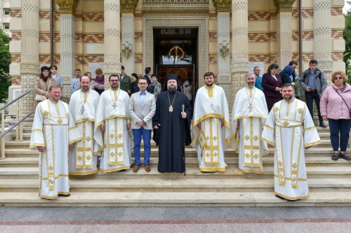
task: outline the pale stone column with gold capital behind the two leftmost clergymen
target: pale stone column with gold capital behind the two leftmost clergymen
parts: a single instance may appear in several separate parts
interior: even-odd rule
[[[72,94],[71,80],[76,64],[76,55],[74,52],[74,13],[78,1],[79,0],[56,0],[56,3],[60,7],[60,59],[63,81],[62,98],[64,101],[68,101]]]

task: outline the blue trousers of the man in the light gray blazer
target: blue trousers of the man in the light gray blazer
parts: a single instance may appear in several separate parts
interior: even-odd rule
[[[140,164],[141,136],[143,136],[144,141],[144,164],[149,165],[151,152],[151,129],[144,129],[144,127],[141,127],[140,129],[133,129],[135,165]]]

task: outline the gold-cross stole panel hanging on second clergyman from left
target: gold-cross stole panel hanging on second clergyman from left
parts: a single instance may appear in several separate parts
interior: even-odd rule
[[[78,141],[76,146],[76,169],[93,169],[94,122],[79,122],[77,128],[83,139]]]

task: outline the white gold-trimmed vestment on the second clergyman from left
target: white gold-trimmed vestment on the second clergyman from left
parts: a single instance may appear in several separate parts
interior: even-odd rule
[[[95,90],[74,92],[69,101],[69,112],[74,118],[81,141],[69,148],[69,174],[89,175],[98,172],[98,155],[93,155],[94,123],[100,94]]]

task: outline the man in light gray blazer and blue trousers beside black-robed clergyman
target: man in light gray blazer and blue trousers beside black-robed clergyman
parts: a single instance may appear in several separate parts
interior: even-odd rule
[[[135,166],[133,171],[137,172],[140,168],[140,144],[141,137],[144,141],[144,166],[145,171],[150,169],[150,153],[151,153],[151,130],[152,117],[156,111],[156,100],[153,94],[147,92],[147,79],[140,78],[138,82],[139,92],[131,95],[129,100],[129,115],[131,116],[131,129],[134,138],[134,158]]]

